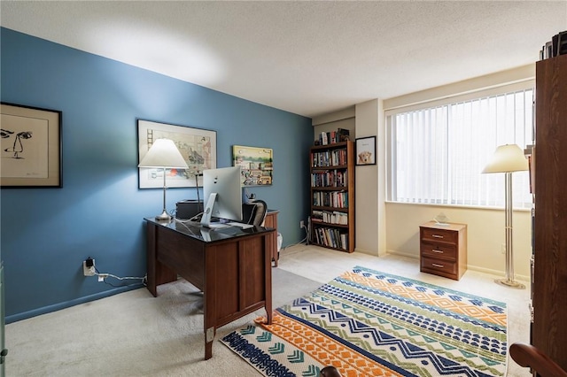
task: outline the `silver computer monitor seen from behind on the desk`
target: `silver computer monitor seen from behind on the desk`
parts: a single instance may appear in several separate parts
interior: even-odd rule
[[[214,227],[211,218],[242,221],[242,188],[240,166],[206,169],[203,171],[203,227]]]

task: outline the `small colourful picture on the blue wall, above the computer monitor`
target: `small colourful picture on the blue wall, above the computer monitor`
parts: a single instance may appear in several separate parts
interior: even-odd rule
[[[242,186],[271,185],[273,164],[274,151],[269,148],[232,146],[232,165],[242,169]]]

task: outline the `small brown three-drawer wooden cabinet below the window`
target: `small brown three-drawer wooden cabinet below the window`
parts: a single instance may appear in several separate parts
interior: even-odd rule
[[[467,271],[467,226],[435,221],[419,227],[419,259],[422,273],[433,273],[458,281]]]

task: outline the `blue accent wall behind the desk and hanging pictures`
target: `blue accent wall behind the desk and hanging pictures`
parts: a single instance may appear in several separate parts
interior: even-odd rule
[[[145,274],[144,217],[161,212],[162,190],[138,188],[136,119],[216,131],[219,167],[231,165],[234,144],[272,148],[273,185],[249,192],[281,211],[284,246],[305,237],[299,220],[309,206],[311,119],[4,27],[0,33],[1,100],[63,113],[63,188],[0,191],[7,322],[140,287],[82,274],[87,257],[102,273]],[[167,208],[196,197],[195,188],[169,188]]]

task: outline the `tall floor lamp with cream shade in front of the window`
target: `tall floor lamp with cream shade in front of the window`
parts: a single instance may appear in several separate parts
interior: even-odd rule
[[[524,284],[514,280],[514,253],[512,249],[512,173],[528,170],[524,152],[516,144],[501,145],[482,173],[505,173],[505,212],[506,212],[506,278],[495,282],[516,289],[524,289]]]

